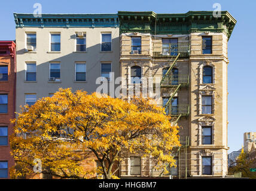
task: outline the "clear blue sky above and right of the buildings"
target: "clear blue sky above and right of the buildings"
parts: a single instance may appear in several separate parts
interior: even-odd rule
[[[117,11],[155,11],[156,13],[186,13],[213,11],[212,5],[221,4],[237,20],[228,41],[228,153],[240,149],[243,133],[256,131],[256,1],[2,1],[0,12],[0,40],[15,39],[13,13],[33,13],[33,4],[42,5],[42,13],[117,13]]]

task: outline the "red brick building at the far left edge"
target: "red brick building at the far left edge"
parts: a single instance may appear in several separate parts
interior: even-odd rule
[[[14,165],[10,156],[9,137],[13,132],[10,119],[15,118],[16,44],[0,41],[0,178],[10,178]]]

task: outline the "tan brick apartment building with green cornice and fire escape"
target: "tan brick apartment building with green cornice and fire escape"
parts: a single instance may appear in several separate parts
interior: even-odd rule
[[[118,11],[118,17],[123,87],[135,93],[146,89],[146,96],[159,94],[157,103],[180,127],[182,146],[173,150],[177,167],[169,168],[168,175],[224,177],[228,167],[227,42],[236,20],[227,11],[221,11],[220,17],[212,11]],[[153,167],[151,158],[127,155],[120,176],[162,174]]]

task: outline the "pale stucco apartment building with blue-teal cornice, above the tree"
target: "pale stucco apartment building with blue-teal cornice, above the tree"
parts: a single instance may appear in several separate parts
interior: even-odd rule
[[[92,93],[102,81],[114,83],[110,72],[118,77],[117,14],[42,14],[36,17],[14,13],[14,19],[17,112],[20,106],[51,96],[60,87]]]

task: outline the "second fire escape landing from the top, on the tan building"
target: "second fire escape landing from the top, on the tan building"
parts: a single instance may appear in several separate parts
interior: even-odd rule
[[[189,76],[184,74],[167,76],[161,82],[161,87],[171,87],[179,84],[181,84],[181,87],[188,87]]]

